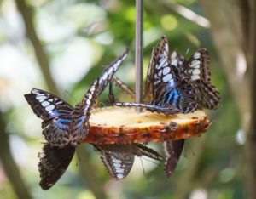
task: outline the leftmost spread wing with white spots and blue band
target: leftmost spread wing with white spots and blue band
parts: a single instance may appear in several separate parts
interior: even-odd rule
[[[33,88],[26,101],[41,119],[43,134],[50,145],[65,146],[70,141],[69,125],[73,107],[54,94]]]

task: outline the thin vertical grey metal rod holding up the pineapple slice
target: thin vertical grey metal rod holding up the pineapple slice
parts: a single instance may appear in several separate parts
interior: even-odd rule
[[[143,0],[136,0],[135,34],[135,100],[140,103],[143,96]]]

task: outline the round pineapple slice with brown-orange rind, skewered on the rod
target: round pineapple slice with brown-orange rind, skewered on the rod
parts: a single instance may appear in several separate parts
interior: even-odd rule
[[[166,116],[135,108],[106,107],[91,111],[90,129],[81,143],[95,145],[163,142],[200,136],[210,125],[204,111]]]

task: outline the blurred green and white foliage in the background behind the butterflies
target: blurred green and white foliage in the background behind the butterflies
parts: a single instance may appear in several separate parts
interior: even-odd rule
[[[134,87],[135,1],[30,0],[26,2],[32,6],[35,12],[34,25],[49,56],[50,65],[55,68],[55,70],[51,68],[51,71],[63,99],[67,99],[73,105],[75,100],[79,101],[90,84],[101,73],[102,66],[122,54],[125,47],[130,48],[131,53],[119,70],[118,76],[131,88]],[[0,21],[8,24],[10,23],[9,14],[16,14],[14,15],[15,23],[18,25],[15,26],[21,31],[18,36],[15,36],[13,34],[15,29],[12,26],[3,26],[2,23],[0,25],[2,26],[0,48],[6,49],[3,47],[9,45],[17,50],[20,56],[26,57],[25,61],[32,65],[37,74],[37,78],[34,79],[33,77],[22,77],[22,74],[17,77],[9,77],[5,73],[5,76],[1,73],[5,79],[1,81],[3,86],[0,86],[0,93],[2,96],[6,95],[1,99],[1,109],[8,114],[7,127],[12,133],[11,138],[16,138],[11,139],[15,144],[12,149],[18,153],[15,160],[20,166],[22,176],[34,198],[94,198],[86,180],[84,181],[79,175],[79,169],[76,166],[77,163],[79,164],[79,158],[74,158],[67,173],[51,190],[45,192],[38,186],[38,158],[36,156],[42,147],[41,142],[44,141],[44,138],[40,133],[40,120],[35,118],[20,93],[27,93],[33,87],[44,89],[45,82],[38,70],[31,43],[26,39],[24,27],[20,22],[18,11],[15,10],[14,2],[3,0],[0,3]],[[197,14],[201,14],[201,8],[195,0],[175,0],[172,3],[184,5]],[[9,30],[4,30],[6,27],[9,27]],[[212,119],[211,128],[207,134],[187,142],[183,157],[170,179],[167,179],[163,173],[163,163],[158,165],[158,163],[142,160],[146,171],[145,176],[142,165],[138,161],[126,179],[114,182],[103,168],[98,154],[92,150],[90,145],[83,145],[81,147],[85,147],[89,152],[90,156],[87,158],[95,168],[91,172],[95,173],[105,185],[104,189],[109,198],[169,199],[176,198],[177,190],[188,191],[188,198],[193,199],[245,198],[243,170],[245,157],[241,152],[244,135],[239,130],[240,117],[227,82],[225,82],[223,67],[218,60],[217,50],[212,44],[209,30],[184,19],[183,16],[158,1],[144,1],[145,71],[151,50],[162,35],[169,37],[172,50],[178,49],[185,54],[189,49],[187,57],[200,47],[205,47],[210,52],[212,82],[222,96],[222,105],[219,110],[209,112]],[[86,43],[89,48],[85,48],[83,51],[83,48],[79,48],[80,43]],[[90,52],[86,51],[88,49]],[[3,57],[2,51],[0,54]],[[90,60],[90,65],[85,71],[79,72],[77,79],[68,82],[64,77],[69,79],[69,76],[78,72],[75,69],[67,70],[64,66],[62,68],[61,64],[55,64],[62,59],[67,60],[71,68],[76,65],[77,59],[81,60],[81,63]],[[10,62],[6,61],[6,63]],[[64,62],[63,64],[65,65]],[[12,67],[12,65],[0,66],[0,70],[1,67]],[[31,73],[27,67],[24,70],[26,73]],[[63,72],[61,80],[59,79],[61,75],[56,74],[56,71]],[[12,72],[15,72],[15,68],[12,69]],[[9,81],[14,79],[17,81],[17,78],[20,78],[18,81],[25,82],[22,88],[10,86],[12,84]],[[127,99],[124,94],[120,94],[119,90],[115,90],[115,93],[119,99]],[[102,94],[101,101],[108,105],[108,89]],[[160,145],[154,147],[161,149]],[[23,153],[20,149],[24,149]],[[189,167],[192,165],[190,162],[193,162],[196,156],[199,156],[199,160],[192,173],[189,173]],[[186,179],[185,175],[191,176],[189,181],[183,180]],[[0,173],[0,198],[15,198],[12,191],[9,180],[4,177],[3,173]],[[202,194],[200,195],[202,197],[195,197],[199,196],[196,194]]]

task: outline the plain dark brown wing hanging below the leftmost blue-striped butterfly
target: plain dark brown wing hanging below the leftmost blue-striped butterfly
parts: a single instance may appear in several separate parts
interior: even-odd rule
[[[40,158],[38,168],[41,178],[39,185],[43,190],[49,190],[61,178],[67,170],[74,152],[75,147],[71,144],[63,148],[51,146],[49,143],[44,145],[43,151],[38,153]]]

